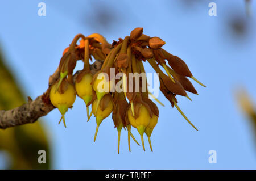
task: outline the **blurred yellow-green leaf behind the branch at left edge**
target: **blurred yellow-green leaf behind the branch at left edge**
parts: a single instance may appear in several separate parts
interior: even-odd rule
[[[10,110],[26,103],[20,87],[4,64],[0,52],[0,110]],[[51,157],[46,131],[39,121],[19,127],[0,129],[0,150],[11,156],[7,169],[49,169]],[[46,164],[38,163],[38,151],[46,151]]]

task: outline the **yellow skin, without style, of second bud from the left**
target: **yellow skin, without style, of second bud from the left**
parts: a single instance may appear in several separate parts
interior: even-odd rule
[[[84,99],[85,104],[87,105],[92,100],[93,88],[90,84],[92,82],[92,74],[88,73],[82,77],[80,82],[75,83],[75,88],[77,95]]]

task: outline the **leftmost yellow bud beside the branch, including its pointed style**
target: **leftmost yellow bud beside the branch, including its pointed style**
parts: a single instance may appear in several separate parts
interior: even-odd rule
[[[68,111],[69,107],[72,107],[76,99],[76,91],[74,86],[64,79],[61,83],[60,90],[55,92],[57,88],[57,82],[51,87],[50,100],[53,106],[57,107],[61,113],[61,119],[63,119],[65,124],[65,113]]]

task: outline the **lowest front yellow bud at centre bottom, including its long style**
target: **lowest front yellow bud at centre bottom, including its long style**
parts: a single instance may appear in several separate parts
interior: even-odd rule
[[[136,103],[134,107],[135,107],[135,117],[133,116],[131,107],[129,107],[127,110],[127,116],[131,125],[134,128],[137,128],[139,134],[141,135],[142,146],[143,146],[143,150],[145,151],[143,134],[146,127],[150,123],[150,118],[151,118],[150,112],[147,110],[146,106],[140,103]]]

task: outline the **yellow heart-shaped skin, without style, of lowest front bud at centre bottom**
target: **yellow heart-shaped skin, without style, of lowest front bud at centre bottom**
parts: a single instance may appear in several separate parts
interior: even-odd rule
[[[150,124],[150,113],[148,112],[147,108],[142,105],[139,114],[137,115],[137,118],[135,119],[133,117],[133,113],[131,112],[131,107],[129,108],[128,112],[128,119],[131,123],[131,125],[134,128],[138,129],[139,134],[143,134],[148,124]]]

